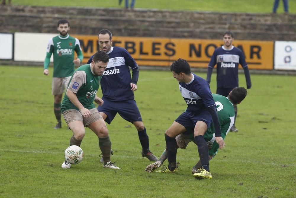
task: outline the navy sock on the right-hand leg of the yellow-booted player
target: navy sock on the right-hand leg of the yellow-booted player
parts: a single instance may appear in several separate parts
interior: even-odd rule
[[[202,162],[202,167],[210,172],[209,167],[209,148],[207,146],[207,142],[203,135],[197,135],[194,137],[194,140],[197,144],[198,154],[200,156],[200,161]]]

